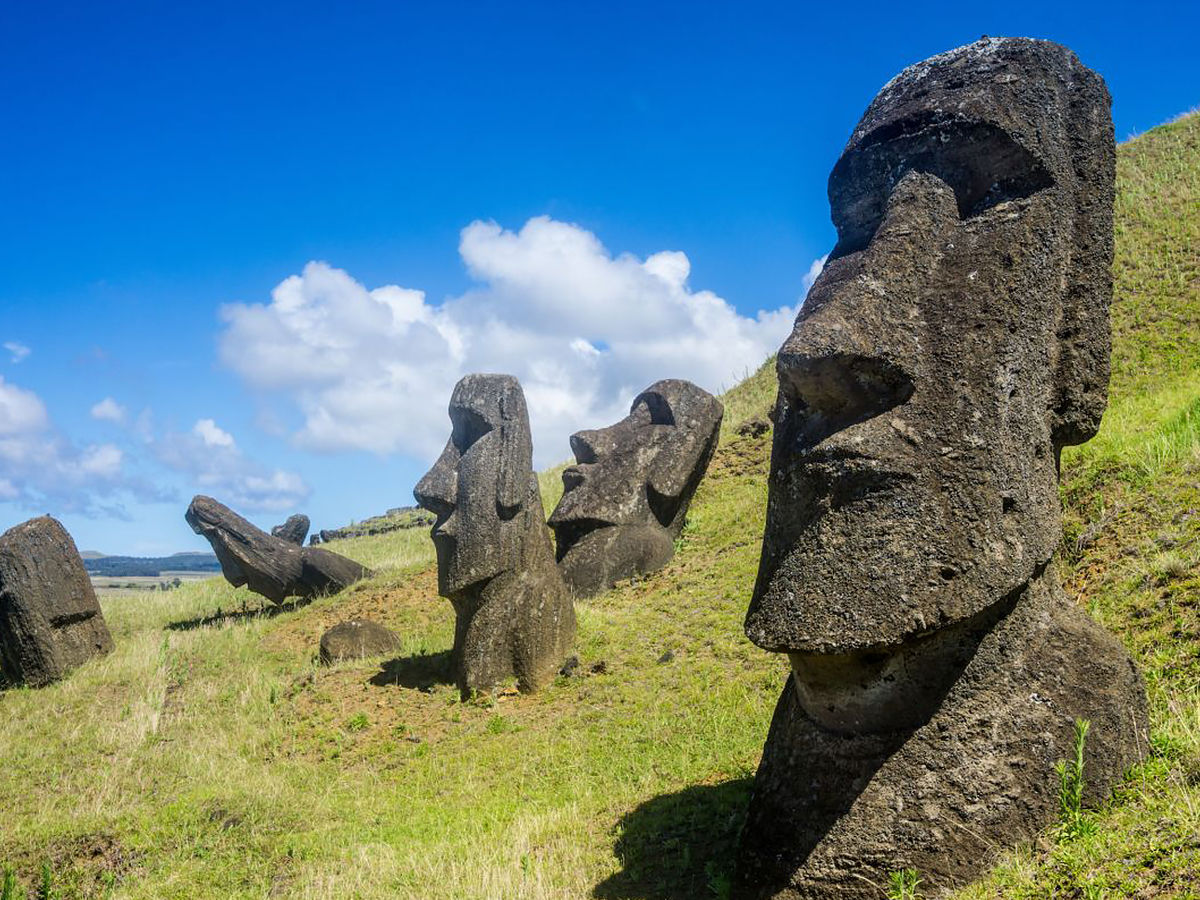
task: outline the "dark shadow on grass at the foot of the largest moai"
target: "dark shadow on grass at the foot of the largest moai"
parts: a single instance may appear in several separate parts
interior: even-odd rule
[[[655,797],[625,815],[613,848],[624,869],[600,882],[593,896],[727,898],[752,785],[750,776],[697,785]]]

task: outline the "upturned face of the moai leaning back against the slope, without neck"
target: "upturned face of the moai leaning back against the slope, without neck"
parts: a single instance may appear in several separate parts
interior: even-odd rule
[[[560,554],[607,526],[678,533],[715,446],[721,413],[707,391],[668,379],[638,394],[619,422],[572,434],[576,464],[563,472],[563,499],[550,517]]]

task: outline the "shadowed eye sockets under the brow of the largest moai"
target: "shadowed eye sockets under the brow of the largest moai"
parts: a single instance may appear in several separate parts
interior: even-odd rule
[[[954,191],[961,218],[1054,184],[1040,160],[991,122],[936,113],[889,122],[848,150],[829,176],[829,204],[838,228],[830,258],[871,242],[892,191],[910,172],[926,172],[944,181]]]

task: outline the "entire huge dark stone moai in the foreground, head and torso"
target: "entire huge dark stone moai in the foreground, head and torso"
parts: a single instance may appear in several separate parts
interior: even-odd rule
[[[739,898],[937,895],[1146,752],[1142,682],[1064,596],[1060,450],[1109,377],[1103,80],[1044,41],[905,70],[829,179],[838,245],[779,352],[746,635],[788,654]]]

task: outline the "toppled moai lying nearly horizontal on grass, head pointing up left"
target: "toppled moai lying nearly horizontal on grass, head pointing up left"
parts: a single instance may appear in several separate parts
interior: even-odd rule
[[[276,604],[289,596],[336,594],[371,575],[337,553],[274,538],[211,497],[192,498],[185,518],[212,545],[226,581]]]

